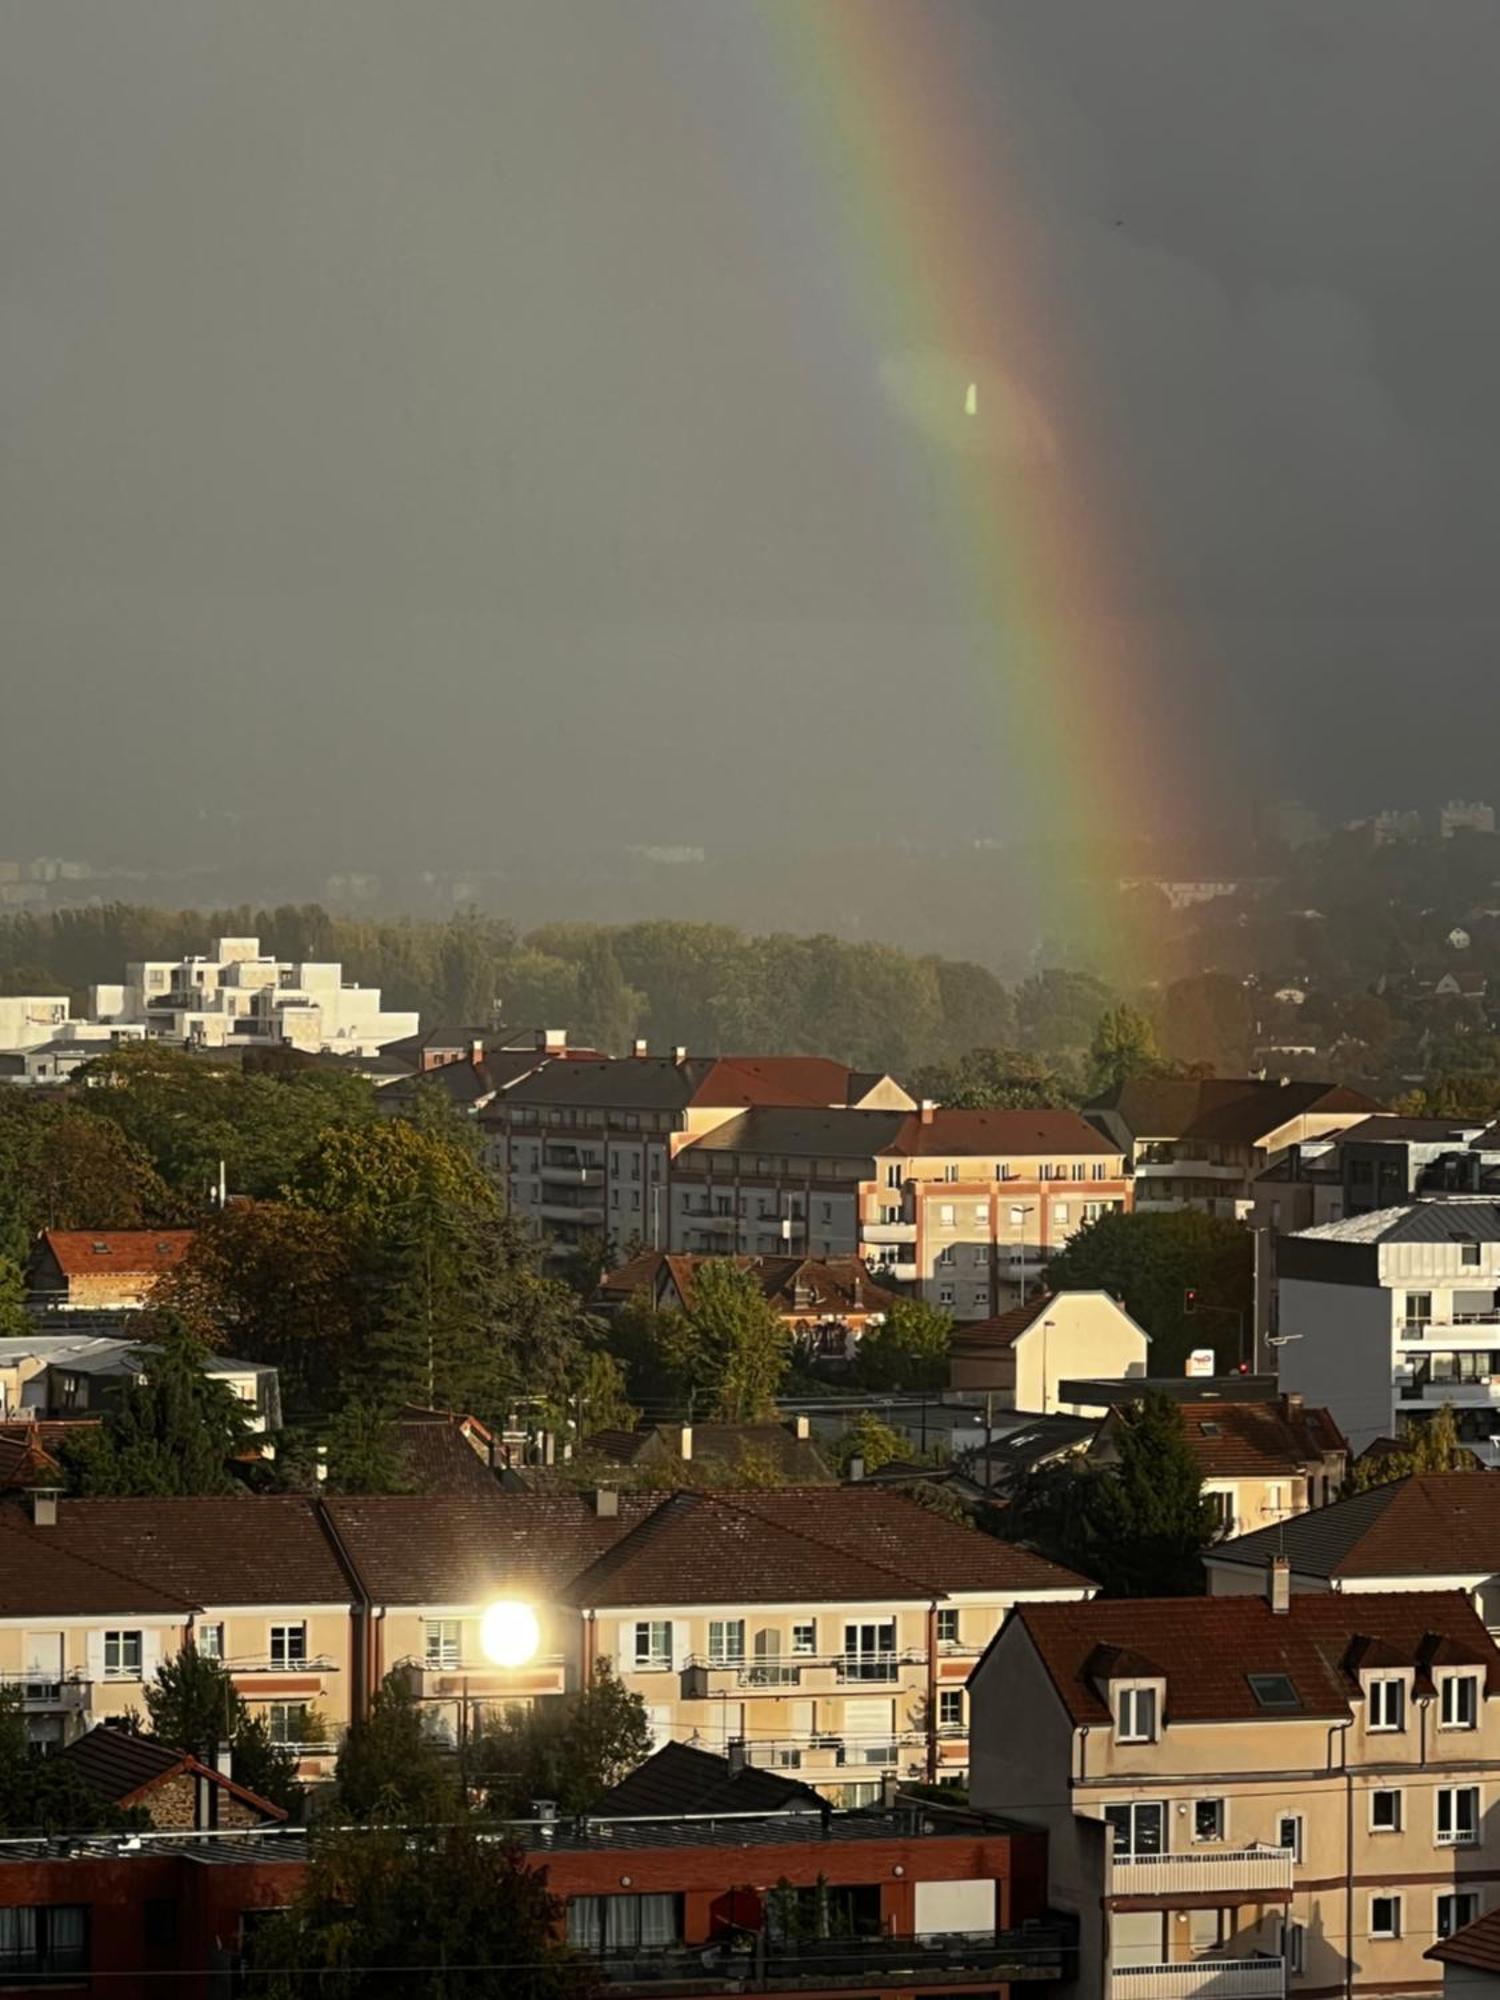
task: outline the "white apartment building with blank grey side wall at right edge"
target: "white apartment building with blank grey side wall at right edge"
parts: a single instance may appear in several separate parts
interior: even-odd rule
[[[1500,1202],[1428,1196],[1274,1242],[1280,1380],[1356,1452],[1452,1404],[1500,1464]]]

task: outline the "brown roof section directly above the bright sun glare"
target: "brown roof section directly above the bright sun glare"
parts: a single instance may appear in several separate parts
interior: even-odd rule
[[[604,1550],[660,1506],[620,1494],[600,1518],[582,1494],[328,1498],[328,1518],[376,1604],[486,1604],[504,1594],[558,1596]]]

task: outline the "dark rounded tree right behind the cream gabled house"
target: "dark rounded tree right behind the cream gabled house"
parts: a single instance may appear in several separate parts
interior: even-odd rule
[[[1224,1372],[1252,1322],[1254,1244],[1238,1222],[1194,1208],[1110,1212],[1086,1224],[1048,1264],[1056,1292],[1110,1292],[1152,1338],[1152,1372],[1180,1374],[1200,1346]],[[1188,1292],[1196,1292],[1188,1312]]]

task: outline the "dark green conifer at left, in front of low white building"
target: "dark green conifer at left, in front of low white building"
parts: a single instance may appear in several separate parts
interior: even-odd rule
[[[70,1488],[88,1496],[234,1492],[232,1460],[250,1438],[234,1390],[206,1374],[208,1348],[180,1322],[156,1320],[142,1374],[120,1392],[98,1432],[64,1446]]]

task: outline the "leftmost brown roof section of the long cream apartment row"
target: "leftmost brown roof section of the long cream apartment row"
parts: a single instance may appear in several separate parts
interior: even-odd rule
[[[0,1512],[18,1542],[40,1550],[42,1562],[48,1554],[88,1560],[140,1578],[172,1604],[350,1604],[354,1598],[318,1522],[316,1500],[280,1494],[60,1500],[54,1528],[34,1528],[20,1506]]]

